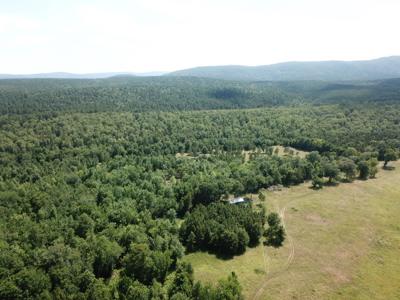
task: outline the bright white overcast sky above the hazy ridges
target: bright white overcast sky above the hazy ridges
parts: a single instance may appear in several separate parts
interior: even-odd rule
[[[0,0],[0,73],[400,55],[399,0]]]

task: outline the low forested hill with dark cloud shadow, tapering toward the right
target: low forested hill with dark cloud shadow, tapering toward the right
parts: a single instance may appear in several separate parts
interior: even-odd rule
[[[299,100],[273,86],[200,78],[0,80],[1,113],[228,109]]]

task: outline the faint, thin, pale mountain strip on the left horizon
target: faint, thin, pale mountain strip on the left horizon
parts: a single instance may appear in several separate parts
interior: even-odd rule
[[[115,76],[160,76],[165,72],[105,72],[105,73],[87,73],[74,74],[66,72],[40,73],[40,74],[0,74],[0,79],[28,79],[28,78],[55,78],[55,79],[101,79]]]

